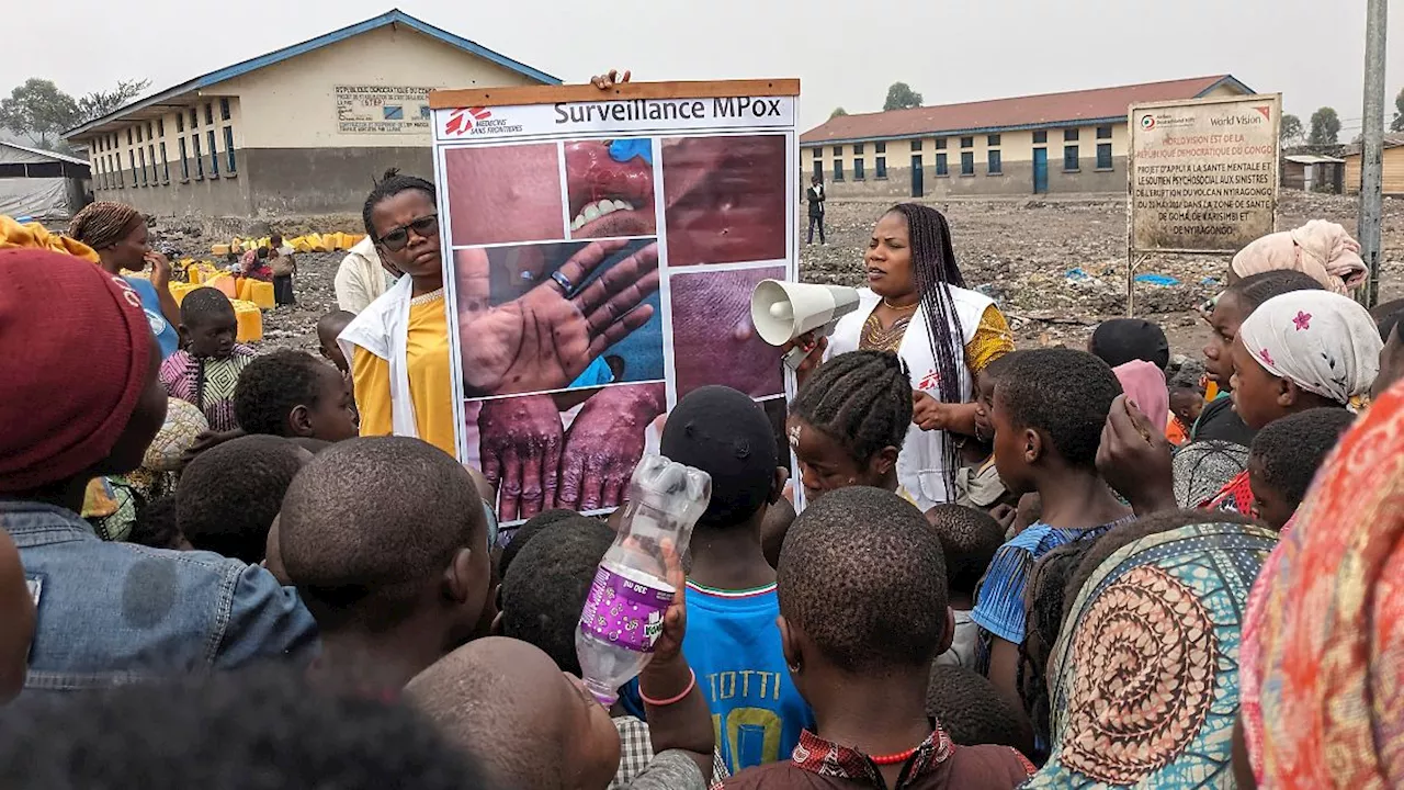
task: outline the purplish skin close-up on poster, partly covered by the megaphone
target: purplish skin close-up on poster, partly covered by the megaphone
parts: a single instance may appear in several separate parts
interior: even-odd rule
[[[762,340],[751,323],[751,291],[767,278],[783,280],[785,267],[668,276],[678,398],[708,384],[751,398],[785,394],[781,350]]]

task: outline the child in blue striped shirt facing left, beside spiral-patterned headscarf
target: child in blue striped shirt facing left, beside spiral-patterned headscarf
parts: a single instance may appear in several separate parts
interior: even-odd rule
[[[1005,543],[976,599],[972,619],[993,637],[990,682],[1019,700],[1024,592],[1033,564],[1053,548],[1095,537],[1132,516],[1097,474],[1102,426],[1120,395],[1105,361],[1085,351],[1024,351],[994,394],[994,457],[1016,495],[1038,492],[1038,523]]]

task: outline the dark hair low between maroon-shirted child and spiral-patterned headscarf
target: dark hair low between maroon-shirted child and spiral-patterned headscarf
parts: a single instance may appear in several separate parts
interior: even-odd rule
[[[962,746],[1009,746],[1033,753],[1029,717],[995,690],[979,672],[938,663],[927,685],[927,715],[935,718]]]

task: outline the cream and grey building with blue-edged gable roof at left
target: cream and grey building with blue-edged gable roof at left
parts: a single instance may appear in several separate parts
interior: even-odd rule
[[[400,10],[195,77],[69,131],[97,200],[154,215],[359,214],[431,179],[428,91],[560,80]]]

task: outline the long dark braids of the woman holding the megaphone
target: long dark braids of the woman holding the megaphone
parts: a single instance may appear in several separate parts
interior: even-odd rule
[[[942,403],[963,403],[960,367],[965,364],[965,330],[956,313],[948,285],[965,288],[965,277],[956,266],[956,250],[951,246],[951,225],[939,211],[903,202],[892,211],[907,218],[907,238],[911,243],[911,274],[917,283],[921,309],[927,313],[927,339],[941,377],[936,391]],[[955,491],[960,450],[955,441],[945,443],[946,489]]]

